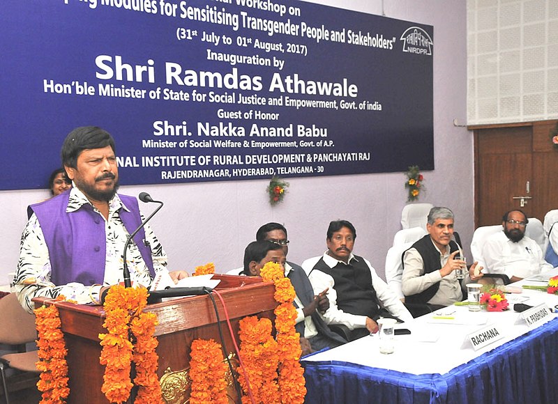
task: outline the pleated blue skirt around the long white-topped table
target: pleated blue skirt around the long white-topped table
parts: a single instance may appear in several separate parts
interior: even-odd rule
[[[338,361],[302,364],[311,404],[558,403],[558,318],[444,375]]]

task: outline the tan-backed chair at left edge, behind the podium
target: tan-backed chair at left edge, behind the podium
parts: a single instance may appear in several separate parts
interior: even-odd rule
[[[25,344],[37,339],[37,330],[35,328],[35,316],[27,313],[22,308],[15,293],[10,293],[0,299],[0,313],[3,323],[0,327],[0,343],[13,345],[15,350],[20,351],[0,357],[3,393],[6,403],[9,403],[10,381],[16,375],[6,378],[6,369],[13,368],[22,372],[39,373],[35,366],[38,361],[37,351],[25,352]]]

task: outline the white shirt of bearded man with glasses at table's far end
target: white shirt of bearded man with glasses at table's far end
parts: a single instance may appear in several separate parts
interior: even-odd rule
[[[483,272],[506,274],[509,278],[527,278],[552,269],[541,247],[527,235],[513,242],[503,230],[499,231],[486,239],[482,254],[486,265]]]

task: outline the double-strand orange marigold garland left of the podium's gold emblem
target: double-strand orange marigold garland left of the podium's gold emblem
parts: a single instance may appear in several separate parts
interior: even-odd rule
[[[147,304],[146,288],[112,286],[105,298],[105,323],[107,334],[99,334],[103,350],[100,364],[105,365],[101,391],[111,403],[128,400],[133,384],[130,380],[131,362],[136,364],[135,382],[138,389],[137,403],[162,403],[156,375],[158,341],[153,336],[157,324],[153,313],[142,313]],[[137,343],[135,352],[130,342],[130,330]]]

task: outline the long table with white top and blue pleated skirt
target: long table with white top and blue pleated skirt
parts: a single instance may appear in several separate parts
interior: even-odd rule
[[[543,285],[522,281],[518,283]],[[524,290],[525,304],[554,307],[558,296]],[[510,299],[518,299],[513,295]],[[513,304],[511,304],[513,306]],[[558,318],[529,329],[519,313],[432,315],[405,323],[395,352],[379,353],[377,336],[303,358],[307,403],[555,403],[558,399]],[[479,323],[485,324],[481,325]],[[467,334],[497,325],[504,338],[474,350]]]

